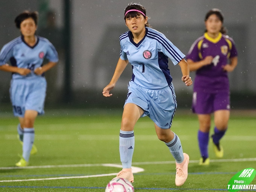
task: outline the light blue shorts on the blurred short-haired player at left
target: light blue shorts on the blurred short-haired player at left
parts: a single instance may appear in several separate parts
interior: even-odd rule
[[[46,79],[12,79],[10,97],[14,116],[24,117],[26,110],[44,114]]]

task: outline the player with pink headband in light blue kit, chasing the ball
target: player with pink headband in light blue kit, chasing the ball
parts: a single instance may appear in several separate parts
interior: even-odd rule
[[[131,171],[134,125],[140,117],[149,116],[154,122],[158,139],[165,142],[176,160],[175,184],[181,186],[187,179],[189,156],[183,153],[179,137],[171,131],[177,102],[168,58],[181,67],[181,80],[186,86],[192,85],[189,66],[184,60],[185,55],[165,35],[149,27],[146,9],[142,5],[131,3],[124,15],[130,31],[120,35],[120,58],[111,82],[102,92],[105,97],[112,95],[110,91],[130,62],[133,75],[128,85],[119,135],[123,169],[117,177],[134,181]]]

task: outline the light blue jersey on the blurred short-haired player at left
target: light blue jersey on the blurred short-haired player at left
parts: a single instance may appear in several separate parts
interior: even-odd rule
[[[31,70],[26,76],[14,73],[12,79],[35,79],[39,76],[34,73],[34,69],[41,67],[44,58],[58,62],[58,53],[52,43],[37,36],[37,43],[31,47],[25,43],[23,36],[20,36],[3,46],[0,52],[0,66],[10,61],[12,66]]]

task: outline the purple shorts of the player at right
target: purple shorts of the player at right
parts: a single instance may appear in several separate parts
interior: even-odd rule
[[[230,110],[229,92],[206,93],[197,91],[193,93],[193,113],[210,114],[217,110]]]

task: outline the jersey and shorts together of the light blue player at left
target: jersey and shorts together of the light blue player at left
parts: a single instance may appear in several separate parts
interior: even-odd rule
[[[3,46],[0,52],[0,66],[10,61],[12,66],[31,70],[26,76],[12,74],[10,97],[14,116],[24,117],[26,110],[44,114],[46,79],[44,74],[34,73],[34,69],[42,66],[44,58],[58,62],[56,49],[43,37],[37,37],[37,43],[33,47],[25,43],[23,36]]]

